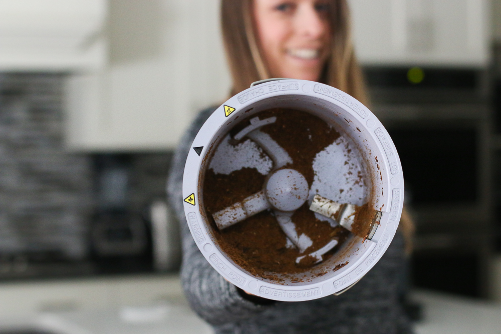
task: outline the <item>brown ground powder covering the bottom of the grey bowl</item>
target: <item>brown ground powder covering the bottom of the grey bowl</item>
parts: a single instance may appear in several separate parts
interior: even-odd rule
[[[312,165],[315,156],[332,144],[339,137],[339,133],[320,118],[297,110],[271,109],[252,117],[264,119],[272,116],[277,117],[277,122],[264,126],[261,131],[268,133],[293,159],[293,164],[285,168],[292,168],[302,173],[311,186],[314,180]],[[234,135],[247,126],[248,120],[249,118],[237,124],[230,133]],[[298,256],[323,247],[332,238],[338,238],[338,246],[324,255],[323,258],[326,260],[349,237],[350,232],[343,227],[333,228],[328,222],[316,219],[307,203],[292,216],[298,234],[305,233],[313,241],[312,246],[303,254],[296,248],[286,247],[286,235],[272,210],[261,212],[224,230],[219,230],[212,214],[261,191],[265,180],[266,176],[254,168],[242,168],[229,175],[214,174],[210,169],[205,173],[203,203],[213,235],[221,250],[242,269],[250,274],[273,280],[279,280],[277,274],[303,273],[309,271],[315,261],[310,256],[298,265],[296,264]],[[338,264],[333,270],[344,265]]]

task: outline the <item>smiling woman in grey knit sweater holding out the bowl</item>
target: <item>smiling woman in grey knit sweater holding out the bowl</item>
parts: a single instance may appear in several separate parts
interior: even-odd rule
[[[232,94],[254,81],[288,77],[323,82],[366,102],[346,0],[222,0],[221,20]],[[400,234],[353,288],[312,301],[275,302],[247,294],[210,266],[185,223],[181,190],[190,144],[214,109],[202,111],[181,140],[168,183],[181,223],[181,280],[191,307],[217,333],[410,332],[399,304],[405,262]]]

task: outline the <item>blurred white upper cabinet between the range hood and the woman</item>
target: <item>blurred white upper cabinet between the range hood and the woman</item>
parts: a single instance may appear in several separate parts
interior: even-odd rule
[[[175,147],[201,108],[227,98],[218,12],[218,0],[111,0],[107,67],[66,83],[68,147]]]

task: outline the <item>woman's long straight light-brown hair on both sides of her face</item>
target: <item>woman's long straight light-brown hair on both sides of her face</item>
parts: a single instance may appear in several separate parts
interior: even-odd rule
[[[362,74],[351,39],[350,13],[346,0],[330,0],[332,49],[320,81],[336,87],[366,104]],[[252,0],[221,0],[221,27],[226,58],[232,77],[232,95],[250,84],[269,79],[255,34]]]

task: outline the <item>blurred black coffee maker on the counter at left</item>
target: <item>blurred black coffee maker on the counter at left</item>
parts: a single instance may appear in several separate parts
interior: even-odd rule
[[[143,215],[129,208],[131,157],[95,157],[96,212],[91,225],[92,257],[99,272],[150,271],[151,238]]]

